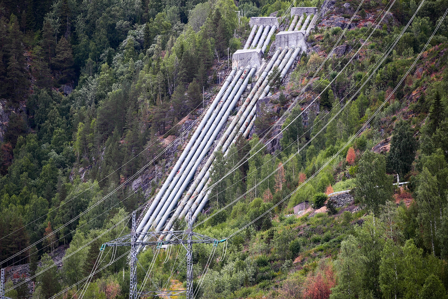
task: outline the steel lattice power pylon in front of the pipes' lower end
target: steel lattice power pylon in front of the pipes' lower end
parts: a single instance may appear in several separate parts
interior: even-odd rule
[[[129,299],[138,299],[140,296],[186,296],[186,299],[193,299],[193,244],[213,244],[217,247],[218,243],[225,242],[226,239],[218,240],[197,234],[193,232],[192,211],[188,211],[188,229],[187,230],[173,230],[173,231],[148,231],[146,233],[138,233],[136,231],[136,211],[132,212],[132,228],[131,233],[123,237],[117,238],[108,243],[104,243],[100,251],[109,246],[131,246],[130,253],[130,286]],[[159,241],[159,236],[171,235],[172,239],[168,241]],[[186,239],[183,239],[184,236]],[[142,237],[142,240],[140,240]],[[146,241],[145,241],[146,240]],[[152,241],[150,241],[152,240]],[[187,288],[186,290],[154,290],[154,291],[137,291],[137,249],[146,245],[156,245],[156,249],[160,249],[163,245],[182,245],[187,251]],[[2,299],[2,298],[0,298]],[[9,299],[9,298],[8,298]]]

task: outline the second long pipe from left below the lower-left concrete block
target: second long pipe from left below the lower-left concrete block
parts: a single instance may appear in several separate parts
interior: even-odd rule
[[[167,191],[164,193],[163,198],[159,201],[159,203],[157,203],[157,205],[155,205],[155,208],[152,211],[152,215],[149,218],[148,222],[145,225],[145,228],[143,229],[144,232],[147,232],[151,225],[153,224],[155,217],[159,214],[159,211],[162,209],[162,207],[164,206],[164,204],[166,203],[166,200],[168,198],[168,196],[170,195],[170,193],[172,192],[172,190],[176,187],[179,186],[178,182],[179,179],[182,177],[183,173],[185,172],[185,169],[187,167],[190,167],[192,163],[192,157],[194,156],[194,154],[197,152],[198,147],[202,144],[204,135],[207,134],[211,123],[215,120],[216,115],[218,114],[218,112],[220,111],[220,108],[222,107],[222,105],[224,104],[224,101],[226,100],[226,98],[224,98],[226,95],[228,95],[228,91],[231,90],[233,88],[233,86],[235,85],[238,77],[241,75],[242,70],[238,71],[238,75],[235,76],[232,80],[232,82],[230,83],[229,87],[227,88],[227,91],[224,93],[222,99],[220,100],[218,107],[215,108],[215,110],[213,111],[213,113],[211,114],[211,117],[209,118],[209,120],[207,121],[207,124],[204,126],[201,134],[199,135],[198,139],[196,140],[196,142],[194,143],[194,146],[192,147],[192,149],[190,150],[190,152],[188,153],[188,156],[185,158],[184,163],[182,163],[181,168],[179,169],[179,172],[177,173],[177,175],[173,178],[171,184],[169,185]]]

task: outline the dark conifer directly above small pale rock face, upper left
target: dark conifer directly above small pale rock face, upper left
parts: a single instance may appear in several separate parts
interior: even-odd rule
[[[59,74],[59,82],[67,83],[73,80],[73,52],[72,46],[65,38],[61,38],[56,46],[56,56],[52,61],[54,69]]]

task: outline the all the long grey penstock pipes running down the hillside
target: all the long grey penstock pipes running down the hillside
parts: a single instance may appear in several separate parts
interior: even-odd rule
[[[305,16],[303,15],[300,19],[298,15],[295,15],[293,22],[289,26],[289,30],[297,30],[298,28],[301,28],[301,30],[306,29],[311,15],[306,16],[306,20],[302,25],[304,18]],[[256,47],[257,49],[261,48],[264,52],[276,29],[276,25],[254,25],[243,49]],[[268,76],[274,69],[277,69],[280,73],[280,80],[283,80],[300,51],[300,46],[286,47],[284,49],[279,47],[276,50],[262,74],[258,77],[258,81],[251,89],[246,100],[241,104],[232,123],[225,130],[220,140],[216,142],[213,151],[198,176],[194,179],[194,182],[190,185],[190,188],[183,198],[178,201],[187,189],[189,183],[193,180],[194,174],[201,164],[202,159],[207,156],[210,149],[214,146],[213,143],[217,135],[224,127],[242,93],[246,90],[249,79],[255,74],[258,66],[247,65],[244,69],[237,70],[234,68],[231,71],[223,87],[216,95],[215,100],[212,102],[206,115],[185,147],[185,150],[177,160],[176,165],[174,165],[171,173],[168,175],[168,178],[138,225],[137,232],[146,232],[151,227],[155,228],[156,231],[164,229],[164,232],[168,232],[171,230],[176,219],[186,217],[190,208],[194,212],[193,219],[195,220],[198,217],[198,214],[207,204],[208,196],[211,192],[206,186],[211,181],[210,176],[213,173],[212,164],[217,151],[222,151],[224,156],[226,156],[230,145],[235,143],[241,134],[247,138],[250,130],[254,126],[256,101],[269,93]],[[172,213],[174,209],[175,211]],[[164,237],[165,235],[161,234],[160,240]],[[166,238],[169,239],[170,236],[168,235]]]

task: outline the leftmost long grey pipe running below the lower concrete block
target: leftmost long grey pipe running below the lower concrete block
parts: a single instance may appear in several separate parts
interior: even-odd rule
[[[220,91],[216,95],[215,100],[213,100],[213,102],[211,103],[210,107],[207,110],[207,113],[205,114],[205,116],[202,119],[202,121],[199,123],[198,128],[195,130],[193,136],[191,137],[190,141],[188,142],[188,144],[185,147],[184,151],[182,152],[181,156],[177,160],[176,164],[174,165],[173,169],[171,170],[170,174],[168,175],[168,178],[163,183],[162,187],[160,188],[160,191],[157,193],[157,195],[156,195],[155,199],[153,200],[150,208],[145,213],[145,216],[143,217],[142,221],[140,221],[140,223],[138,224],[138,228],[137,228],[138,232],[142,231],[142,229],[146,225],[146,222],[148,221],[149,217],[151,217],[151,214],[153,212],[153,209],[151,210],[151,208],[155,208],[155,205],[158,204],[160,198],[164,194],[164,191],[168,188],[170,182],[172,181],[172,179],[176,175],[177,170],[179,170],[179,167],[181,166],[182,162],[185,160],[185,156],[190,152],[190,149],[194,145],[196,139],[198,138],[199,133],[201,132],[202,128],[207,123],[211,113],[213,112],[213,110],[215,109],[216,105],[220,101],[221,95],[224,93],[224,90],[227,89],[228,85],[232,81],[233,76],[235,75],[236,72],[237,72],[237,68],[233,68],[232,71],[230,72],[230,74],[228,75],[228,77],[226,78],[222,88],[220,89]]]

